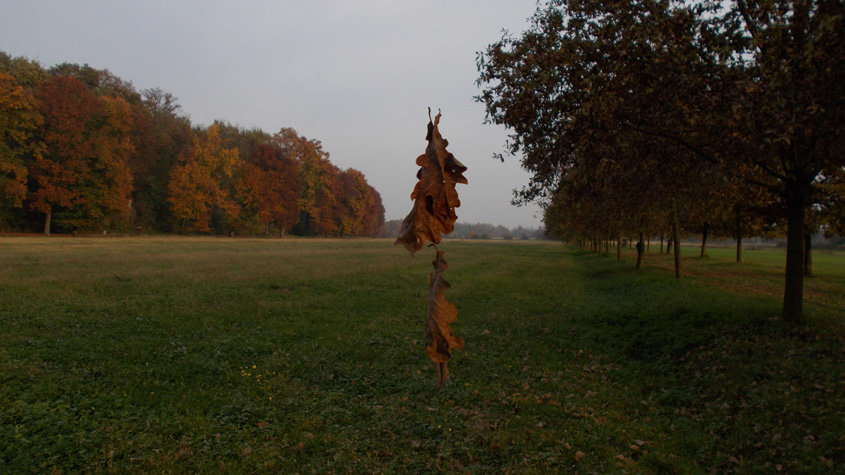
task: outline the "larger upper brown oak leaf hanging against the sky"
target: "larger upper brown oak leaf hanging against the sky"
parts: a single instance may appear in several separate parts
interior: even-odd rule
[[[456,183],[467,184],[463,172],[465,167],[454,155],[446,151],[449,141],[440,135],[438,124],[440,112],[431,122],[431,109],[428,110],[428,146],[425,153],[417,157],[417,185],[411,193],[414,209],[402,222],[399,237],[395,244],[403,244],[411,253],[422,249],[425,241],[440,243],[442,234],[449,234],[455,229],[455,208],[461,205]]]

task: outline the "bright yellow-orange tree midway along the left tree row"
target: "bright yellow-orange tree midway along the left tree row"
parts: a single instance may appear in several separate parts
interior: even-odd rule
[[[212,218],[231,222],[240,207],[231,196],[227,182],[240,166],[237,150],[223,148],[216,125],[194,140],[184,163],[170,173],[168,183],[171,212],[188,231],[212,231]]]

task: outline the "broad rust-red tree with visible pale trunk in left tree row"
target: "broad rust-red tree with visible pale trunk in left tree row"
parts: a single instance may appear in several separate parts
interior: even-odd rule
[[[30,168],[30,206],[45,214],[50,234],[54,212],[71,229],[109,227],[128,215],[131,127],[122,99],[94,96],[70,77],[45,80],[36,91],[44,124],[44,152]]]

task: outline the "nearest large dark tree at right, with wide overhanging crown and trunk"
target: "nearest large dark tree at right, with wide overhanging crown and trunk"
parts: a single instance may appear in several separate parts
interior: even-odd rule
[[[653,140],[686,177],[739,176],[777,196],[790,216],[784,318],[799,322],[803,216],[818,177],[842,166],[845,149],[842,9],[550,1],[521,38],[479,56],[487,85],[479,100],[492,122],[511,128],[508,151],[533,173],[523,199],[553,192],[599,141],[621,146],[632,134]],[[685,203],[669,203],[676,229]]]

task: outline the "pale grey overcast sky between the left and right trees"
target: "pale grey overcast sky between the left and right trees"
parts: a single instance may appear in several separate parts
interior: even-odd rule
[[[492,158],[506,131],[483,124],[476,52],[528,26],[534,0],[0,0],[0,50],[50,67],[108,69],[178,98],[194,124],[220,119],[317,139],[381,193],[386,219],[411,210],[427,108],[468,167],[461,222],[541,225],[514,207],[528,182]]]

